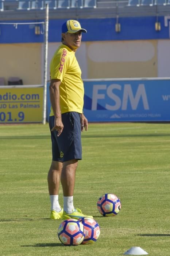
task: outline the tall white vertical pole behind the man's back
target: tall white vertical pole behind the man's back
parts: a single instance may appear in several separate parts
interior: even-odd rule
[[[44,100],[43,100],[43,124],[46,124],[48,32],[49,32],[49,5],[46,4],[45,39],[44,39]]]

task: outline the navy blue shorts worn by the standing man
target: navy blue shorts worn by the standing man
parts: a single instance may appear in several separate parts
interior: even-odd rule
[[[58,131],[51,132],[53,161],[66,162],[72,159],[82,159],[81,148],[81,114],[67,112],[62,114],[64,125],[61,135]],[[49,117],[50,131],[54,127],[54,116]]]

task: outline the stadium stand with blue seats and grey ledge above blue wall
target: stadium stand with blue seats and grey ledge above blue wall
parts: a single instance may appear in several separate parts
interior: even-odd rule
[[[170,0],[0,0],[1,20],[169,16]],[[28,11],[29,10],[29,11]],[[35,12],[36,10],[36,12]]]

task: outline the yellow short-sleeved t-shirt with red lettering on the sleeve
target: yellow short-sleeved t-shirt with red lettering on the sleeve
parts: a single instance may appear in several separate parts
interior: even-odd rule
[[[84,86],[81,69],[75,52],[68,46],[62,44],[54,53],[50,63],[50,77],[61,80],[59,86],[61,113],[70,111],[82,113]],[[54,116],[52,108],[50,116]]]

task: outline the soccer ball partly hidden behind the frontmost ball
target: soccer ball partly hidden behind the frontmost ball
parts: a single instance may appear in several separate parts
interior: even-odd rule
[[[83,217],[79,219],[79,221],[83,224],[85,230],[85,238],[82,244],[93,244],[96,242],[100,236],[100,227],[98,223],[89,217]]]

